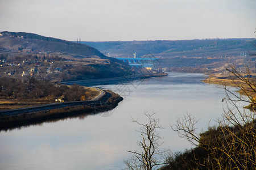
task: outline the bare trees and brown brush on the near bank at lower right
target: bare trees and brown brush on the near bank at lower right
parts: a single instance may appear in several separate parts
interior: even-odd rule
[[[204,133],[197,133],[196,124],[199,120],[192,114],[185,114],[182,118],[177,118],[176,124],[171,128],[177,131],[181,138],[187,138],[195,147],[184,152],[169,154],[168,165],[160,169],[256,169],[256,114],[255,97],[252,97],[256,94],[255,79],[253,76],[242,75],[234,66],[227,70],[233,74],[236,80],[239,80],[240,83],[235,80],[232,83],[246,97],[238,96],[224,86],[226,97],[222,102],[226,101],[225,112],[221,118],[216,120],[217,125],[209,127],[208,131]],[[250,75],[248,67],[245,70],[244,74]],[[240,109],[237,105],[238,101],[249,103],[251,109]],[[142,134],[143,140],[138,144],[143,151],[132,152],[135,157],[125,162],[129,169],[152,169],[150,163],[156,164],[159,161],[150,159],[150,157],[148,159],[148,155],[154,155],[150,154],[153,144],[156,144],[156,147],[159,146],[158,134],[151,131],[155,130],[154,127],[159,128],[158,121],[152,120],[150,124],[140,124],[134,120],[142,126],[142,131],[139,132]],[[159,158],[161,156],[160,154]]]

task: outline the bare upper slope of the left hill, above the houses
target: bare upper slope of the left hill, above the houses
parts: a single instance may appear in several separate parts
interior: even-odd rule
[[[52,37],[44,37],[35,33],[4,31],[1,34],[0,49],[2,50],[18,51],[28,49],[33,53],[60,52],[84,57],[105,57],[104,54],[91,46]]]

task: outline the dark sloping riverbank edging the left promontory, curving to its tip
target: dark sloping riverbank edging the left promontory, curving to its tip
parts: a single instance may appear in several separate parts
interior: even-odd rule
[[[44,109],[43,111],[27,112],[21,114],[2,114],[0,116],[0,130],[10,130],[22,126],[42,124],[47,121],[58,121],[63,118],[87,116],[114,109],[123,98],[111,91],[105,91],[101,99],[90,103],[73,105],[69,107]]]

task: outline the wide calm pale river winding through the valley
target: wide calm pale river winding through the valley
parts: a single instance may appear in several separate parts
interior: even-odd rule
[[[26,128],[0,132],[0,169],[122,169],[123,160],[139,151],[139,126],[144,113],[155,112],[164,129],[162,147],[175,151],[191,148],[171,126],[176,118],[191,113],[200,119],[199,132],[224,112],[225,92],[201,82],[204,74],[168,73],[168,76],[98,86],[123,96],[109,112],[66,118]]]

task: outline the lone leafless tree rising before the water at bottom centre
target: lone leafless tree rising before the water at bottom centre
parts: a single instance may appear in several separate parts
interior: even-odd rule
[[[132,119],[133,122],[141,126],[137,130],[141,134],[142,141],[137,145],[142,148],[141,152],[128,151],[133,155],[132,158],[125,160],[127,169],[155,169],[158,165],[167,164],[170,150],[159,150],[159,146],[163,144],[162,138],[157,132],[158,129],[163,129],[159,125],[159,119],[155,117],[155,113],[145,113],[148,122],[142,124],[138,120]]]

